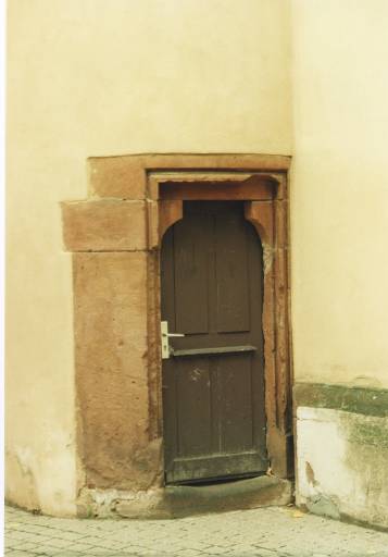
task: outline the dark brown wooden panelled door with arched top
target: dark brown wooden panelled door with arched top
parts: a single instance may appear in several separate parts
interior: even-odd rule
[[[184,203],[162,245],[167,483],[266,470],[260,238],[233,201]]]

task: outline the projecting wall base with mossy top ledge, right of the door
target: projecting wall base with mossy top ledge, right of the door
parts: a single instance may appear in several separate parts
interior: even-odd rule
[[[297,504],[388,528],[388,392],[295,387]]]

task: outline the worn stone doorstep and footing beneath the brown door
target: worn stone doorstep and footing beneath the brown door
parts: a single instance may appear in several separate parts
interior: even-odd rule
[[[182,518],[288,505],[292,493],[292,482],[268,475],[213,485],[171,485],[148,492],[84,488],[77,510],[83,518]]]

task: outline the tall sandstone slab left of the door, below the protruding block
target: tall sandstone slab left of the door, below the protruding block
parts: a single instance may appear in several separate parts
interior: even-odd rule
[[[74,256],[78,447],[89,486],[145,490],[149,438],[147,255]]]

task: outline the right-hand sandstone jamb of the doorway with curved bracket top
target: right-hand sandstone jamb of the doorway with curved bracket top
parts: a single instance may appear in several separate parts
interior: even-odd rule
[[[245,214],[261,238],[264,257],[263,333],[268,457],[273,473],[290,478],[293,475],[293,453],[289,411],[288,292],[285,287],[287,255],[278,245],[278,238],[284,238],[286,231],[279,224],[279,211],[283,218],[286,215],[284,207],[284,202],[278,201],[247,201]]]

